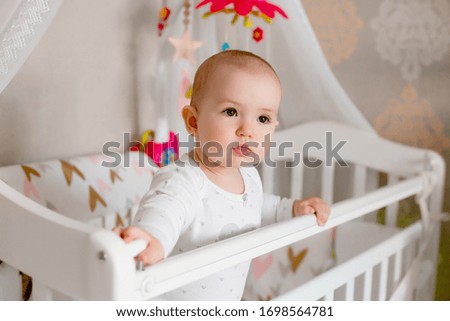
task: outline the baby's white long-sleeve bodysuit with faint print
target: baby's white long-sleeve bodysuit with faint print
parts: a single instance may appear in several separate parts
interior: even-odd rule
[[[293,200],[264,194],[254,167],[241,167],[243,194],[212,183],[188,155],[157,171],[134,225],[162,244],[167,257],[291,217]],[[159,300],[240,300],[250,262],[227,268]]]

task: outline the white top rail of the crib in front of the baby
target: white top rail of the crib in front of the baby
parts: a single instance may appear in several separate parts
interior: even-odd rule
[[[303,216],[168,258],[136,273],[135,299],[150,299],[189,284],[420,193],[422,188],[423,178],[409,178],[334,204],[325,227],[317,226],[314,217]]]

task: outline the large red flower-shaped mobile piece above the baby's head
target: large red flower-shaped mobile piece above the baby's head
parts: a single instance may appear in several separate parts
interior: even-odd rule
[[[215,13],[233,14],[234,17],[231,24],[235,24],[239,16],[244,17],[244,26],[251,28],[253,23],[250,20],[250,14],[261,18],[267,23],[272,23],[272,19],[275,17],[275,13],[279,13],[284,18],[288,18],[286,13],[280,7],[269,3],[267,0],[203,0],[195,9],[199,9],[207,4],[211,3],[210,11],[203,15],[203,18],[208,18]],[[233,7],[226,8],[229,4]],[[253,8],[255,7],[255,9]]]

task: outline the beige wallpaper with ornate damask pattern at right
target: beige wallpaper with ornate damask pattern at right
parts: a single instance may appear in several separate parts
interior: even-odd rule
[[[450,0],[302,3],[333,72],[375,130],[450,164]],[[450,222],[441,231],[436,299],[450,300]]]

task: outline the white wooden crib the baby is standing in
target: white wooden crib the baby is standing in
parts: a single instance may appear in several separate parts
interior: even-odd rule
[[[311,147],[309,162],[326,161],[330,148],[344,141],[338,155],[348,167],[333,159],[311,176],[302,163],[285,166],[286,161],[295,163],[298,153],[305,156],[305,146]],[[133,259],[142,244],[123,243],[111,232],[107,217],[63,216],[0,180],[0,296],[17,299],[10,295],[17,283],[11,278],[18,279],[20,270],[33,278],[35,300],[147,300],[337,227],[334,264],[272,299],[433,299],[445,176],[438,154],[331,122],[282,130],[275,142],[292,144],[272,149],[276,168],[261,166],[265,190],[295,198],[308,196],[308,189],[317,191],[332,203],[325,227],[318,227],[312,216],[295,218],[170,257],[145,270],[137,270]],[[379,186],[378,173],[387,175],[386,185]],[[308,184],[303,184],[305,177]],[[399,201],[412,196],[421,219],[397,228]],[[380,209],[384,225],[373,219]]]

